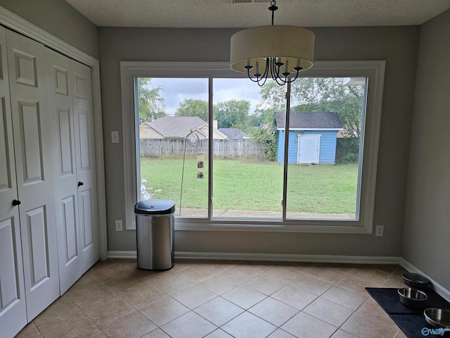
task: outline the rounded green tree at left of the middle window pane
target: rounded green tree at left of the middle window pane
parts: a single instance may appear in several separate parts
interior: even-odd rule
[[[231,99],[214,104],[214,119],[219,128],[245,130],[250,112],[250,101]]]

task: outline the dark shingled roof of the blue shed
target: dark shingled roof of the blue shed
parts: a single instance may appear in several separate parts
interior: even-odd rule
[[[276,113],[276,127],[278,130],[285,128],[285,114]],[[318,130],[333,129],[342,130],[342,121],[338,113],[333,112],[290,112],[289,129],[290,130]]]

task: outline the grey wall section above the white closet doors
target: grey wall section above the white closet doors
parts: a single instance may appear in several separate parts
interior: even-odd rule
[[[98,59],[97,27],[64,0],[0,0],[0,6]]]

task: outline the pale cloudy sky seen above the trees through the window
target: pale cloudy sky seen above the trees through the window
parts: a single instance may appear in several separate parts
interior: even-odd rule
[[[160,94],[165,98],[167,115],[175,115],[176,108],[184,99],[200,99],[208,101],[207,78],[162,78],[152,77],[153,87],[161,85],[164,92]],[[231,99],[250,100],[250,114],[259,104],[259,86],[250,82],[248,78],[221,78],[214,79],[214,104]]]

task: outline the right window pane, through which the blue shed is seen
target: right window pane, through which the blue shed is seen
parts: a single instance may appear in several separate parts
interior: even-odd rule
[[[309,77],[292,84],[286,218],[358,219],[366,78]],[[276,115],[283,162],[285,114]]]

